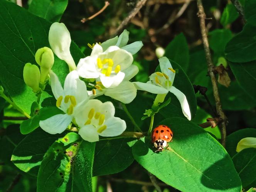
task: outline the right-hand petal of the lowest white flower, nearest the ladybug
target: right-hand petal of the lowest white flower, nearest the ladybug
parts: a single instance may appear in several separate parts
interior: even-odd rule
[[[118,136],[126,129],[125,121],[121,120],[119,117],[109,118],[104,124],[107,128],[102,133],[99,133],[100,136]]]

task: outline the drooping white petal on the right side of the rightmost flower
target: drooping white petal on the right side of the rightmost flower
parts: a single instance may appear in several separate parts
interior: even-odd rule
[[[188,120],[191,120],[189,103],[187,102],[186,96],[179,89],[177,89],[173,86],[169,89],[169,91],[171,93],[173,93],[177,97],[177,99],[180,101],[180,106],[181,106],[181,109],[182,109],[182,112],[183,112],[184,116]]]

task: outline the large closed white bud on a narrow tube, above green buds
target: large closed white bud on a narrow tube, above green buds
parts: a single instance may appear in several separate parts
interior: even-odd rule
[[[69,50],[71,37],[65,24],[55,22],[51,25],[49,30],[49,44],[56,56],[68,64],[69,71],[76,69],[76,64]]]

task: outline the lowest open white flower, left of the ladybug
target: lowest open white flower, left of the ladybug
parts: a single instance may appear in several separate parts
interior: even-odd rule
[[[89,142],[99,141],[99,135],[120,135],[126,129],[126,123],[114,115],[115,107],[110,101],[102,103],[97,99],[89,100],[76,116],[76,123],[80,127],[78,134]]]

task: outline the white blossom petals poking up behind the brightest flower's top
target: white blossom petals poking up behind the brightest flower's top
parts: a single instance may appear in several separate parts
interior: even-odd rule
[[[135,41],[127,45],[128,40],[129,40],[129,32],[125,29],[119,35],[119,37],[116,36],[112,39],[108,39],[105,42],[101,43],[101,47],[103,48],[103,51],[106,51],[108,47],[115,45],[134,55],[136,52],[138,52],[141,49],[141,47],[143,46],[143,43],[141,41]]]

